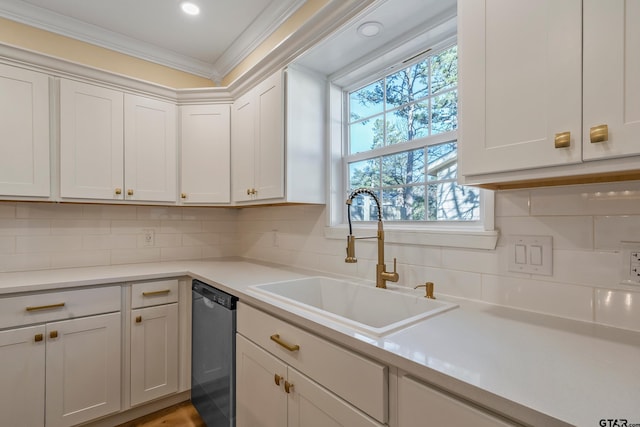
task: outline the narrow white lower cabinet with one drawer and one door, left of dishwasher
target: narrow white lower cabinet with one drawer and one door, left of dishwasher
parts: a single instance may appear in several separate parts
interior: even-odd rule
[[[178,280],[131,286],[131,406],[178,391]]]

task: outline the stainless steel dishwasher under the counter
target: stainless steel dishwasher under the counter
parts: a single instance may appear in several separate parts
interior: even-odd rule
[[[199,280],[191,290],[191,402],[207,427],[233,427],[238,298]]]

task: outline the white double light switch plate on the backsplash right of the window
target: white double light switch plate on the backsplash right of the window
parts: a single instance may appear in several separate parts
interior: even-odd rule
[[[553,275],[552,236],[509,236],[507,253],[509,271]]]

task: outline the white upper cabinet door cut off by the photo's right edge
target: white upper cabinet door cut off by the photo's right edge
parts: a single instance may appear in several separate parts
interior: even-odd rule
[[[584,159],[640,154],[640,3],[584,1]],[[590,130],[606,124],[607,141]]]

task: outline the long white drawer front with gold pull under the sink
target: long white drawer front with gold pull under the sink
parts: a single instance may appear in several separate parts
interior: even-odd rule
[[[237,316],[238,333],[378,421],[387,422],[389,377],[385,365],[242,303]],[[286,349],[271,338],[274,335],[299,349]]]

